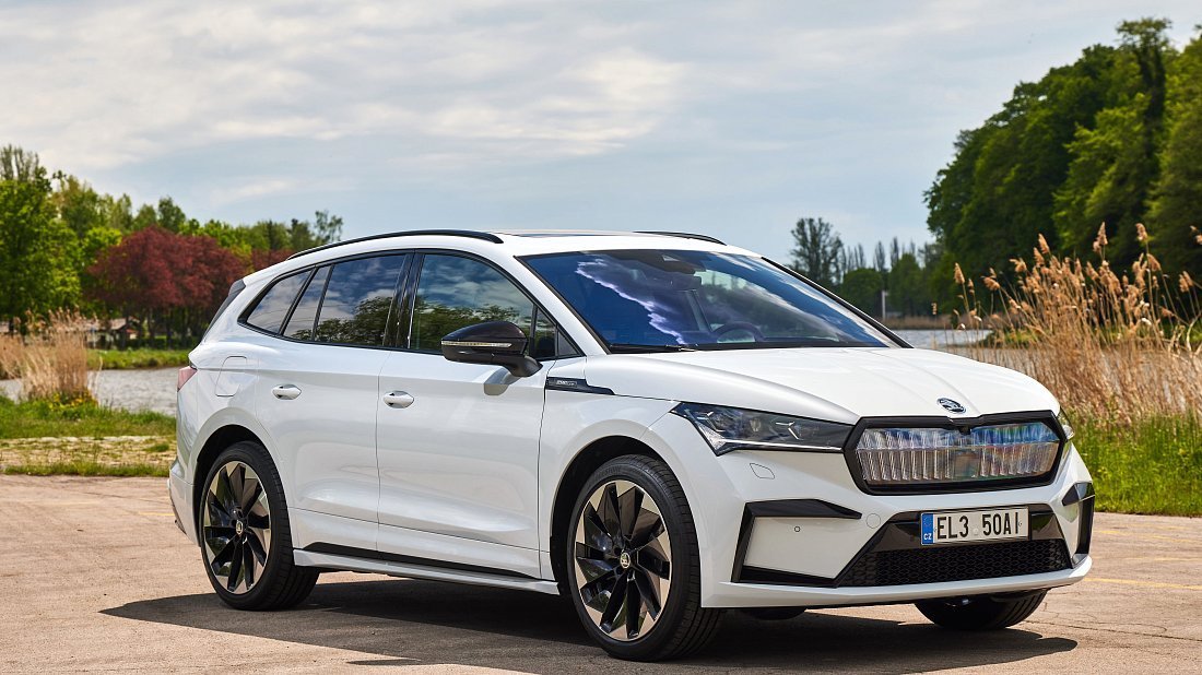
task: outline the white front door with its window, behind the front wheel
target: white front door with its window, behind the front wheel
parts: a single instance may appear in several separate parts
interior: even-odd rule
[[[423,256],[412,298],[409,348],[380,374],[380,550],[535,575],[548,369],[514,377],[440,352],[444,335],[484,321],[531,335],[535,305],[492,265],[442,253]]]

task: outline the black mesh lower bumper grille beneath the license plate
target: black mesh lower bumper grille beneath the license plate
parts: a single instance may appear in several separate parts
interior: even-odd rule
[[[1064,539],[869,551],[840,586],[904,586],[1059,572],[1071,567]]]

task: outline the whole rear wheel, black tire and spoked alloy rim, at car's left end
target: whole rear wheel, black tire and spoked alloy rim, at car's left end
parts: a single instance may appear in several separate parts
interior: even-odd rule
[[[251,441],[226,448],[196,506],[201,562],[213,590],[236,609],[286,609],[304,601],[319,572],[292,561],[284,485],[267,449]]]

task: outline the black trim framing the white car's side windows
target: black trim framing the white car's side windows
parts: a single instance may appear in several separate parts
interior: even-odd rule
[[[525,295],[526,299],[530,300],[531,304],[534,304],[535,312],[534,312],[534,317],[532,318],[536,318],[540,312],[543,313],[543,315],[546,315],[547,318],[555,325],[555,333],[559,334],[559,335],[563,335],[563,338],[567,341],[569,346],[571,346],[572,352],[571,353],[566,353],[566,354],[558,354],[557,353],[553,357],[543,357],[543,358],[536,359],[540,363],[552,362],[552,360],[560,360],[560,359],[570,359],[570,358],[577,358],[577,357],[584,356],[584,352],[581,350],[579,345],[577,345],[576,340],[573,340],[572,336],[567,331],[564,330],[563,324],[559,321],[555,319],[554,315],[552,315],[549,311],[547,311],[547,309],[543,307],[542,304],[538,303],[538,300],[532,294],[530,294],[530,292],[525,288],[525,286],[523,286],[517,279],[514,279],[512,274],[510,274],[508,271],[501,269],[493,261],[489,261],[488,258],[486,258],[483,256],[480,256],[477,253],[472,253],[470,251],[459,251],[459,250],[456,250],[456,249],[438,249],[438,247],[432,247],[432,249],[385,249],[385,250],[380,250],[380,251],[367,251],[367,252],[356,253],[356,255],[352,255],[352,256],[343,256],[343,257],[339,257],[339,258],[328,258],[328,259],[325,259],[325,261],[315,261],[311,265],[302,267],[302,268],[298,268],[298,269],[290,270],[290,271],[287,271],[285,274],[281,274],[281,275],[272,279],[267,285],[264,285],[263,289],[258,292],[258,294],[255,297],[255,299],[251,300],[250,303],[248,303],[246,307],[242,311],[240,315],[238,315],[238,325],[242,325],[243,328],[248,328],[250,330],[254,330],[255,333],[261,333],[261,334],[267,335],[269,338],[275,338],[278,340],[284,340],[286,342],[293,342],[293,344],[297,344],[297,345],[321,345],[321,346],[329,346],[329,347],[355,347],[355,348],[359,348],[359,350],[383,350],[383,351],[387,351],[387,352],[407,352],[407,353],[413,353],[413,354],[427,354],[427,356],[438,354],[438,352],[427,352],[427,351],[418,351],[418,350],[411,350],[411,348],[409,348],[409,345],[410,345],[411,338],[412,338],[411,333],[412,333],[413,301],[415,301],[416,295],[417,295],[417,293],[416,293],[417,292],[417,281],[418,281],[418,277],[421,276],[421,269],[422,269],[422,264],[421,263],[426,258],[427,253],[433,253],[433,255],[451,255],[451,256],[458,256],[458,257],[462,257],[462,258],[471,258],[471,259],[478,261],[478,262],[481,262],[481,263],[483,263],[483,264],[486,264],[486,265],[495,269],[498,273],[501,274],[501,276],[504,276],[511,283],[513,283],[513,286],[518,289],[518,292],[520,292],[523,295]],[[349,262],[349,261],[355,261],[355,259],[359,259],[359,258],[374,258],[374,257],[385,257],[385,256],[405,256],[406,261],[405,261],[404,267],[400,270],[400,277],[399,277],[399,280],[397,282],[397,288],[393,291],[392,306],[388,310],[388,319],[387,319],[387,323],[385,324],[385,334],[383,334],[383,340],[385,341],[383,341],[383,345],[350,345],[350,344],[346,344],[346,342],[317,342],[315,340],[296,340],[293,338],[287,338],[286,335],[284,335],[284,330],[287,328],[288,321],[292,318],[292,312],[296,311],[297,303],[300,301],[300,297],[304,295],[304,292],[309,288],[309,282],[313,281],[313,275],[314,275],[314,273],[317,269],[320,269],[322,267],[327,267],[327,265],[331,267],[331,268],[333,268],[333,265],[335,265],[335,264],[339,264],[339,263],[343,263],[343,262]],[[520,258],[518,258],[518,259],[520,261]],[[525,267],[529,269],[529,265],[525,265]],[[256,306],[258,306],[258,303],[262,301],[263,295],[266,295],[268,292],[270,292],[270,289],[279,281],[281,281],[284,279],[287,279],[290,276],[297,275],[297,274],[308,274],[308,277],[305,279],[304,286],[302,286],[300,291],[297,292],[296,298],[292,299],[292,305],[288,306],[288,312],[284,317],[284,323],[280,324],[280,331],[279,333],[270,333],[268,330],[264,330],[262,328],[258,328],[257,325],[254,325],[254,324],[246,322],[246,317],[250,315],[250,312],[252,312],[255,310]],[[334,276],[333,275],[333,269],[331,269],[331,274],[326,276],[326,285],[327,286],[329,285],[329,280],[333,276]],[[536,274],[536,276],[537,276],[537,274]],[[538,279],[542,280],[541,276],[538,276]],[[551,288],[551,287],[547,286],[547,288]],[[551,288],[551,291],[553,293],[555,292],[554,288]],[[558,297],[559,294],[555,293],[555,295]],[[321,303],[325,303],[325,300],[326,300],[326,289],[323,288],[322,293],[321,293]],[[563,300],[563,298],[560,298],[560,300]],[[566,303],[564,303],[564,304],[565,304],[565,306],[567,306],[571,310],[570,305],[567,305]],[[572,310],[572,311],[575,313],[575,310]],[[393,313],[397,315],[397,321],[395,322],[393,322]],[[319,313],[317,313],[317,316],[319,317],[321,316],[320,304],[319,304]],[[405,323],[404,340],[401,340],[401,335],[400,335],[401,322]],[[391,328],[393,328],[393,324],[395,324],[395,330],[391,330]],[[584,324],[584,325],[588,325],[588,324]],[[590,328],[590,330],[591,330],[591,328]],[[531,333],[532,331],[534,331],[534,324],[531,323]],[[392,333],[392,335],[389,335],[389,333]],[[401,346],[401,341],[404,341],[404,346]]]

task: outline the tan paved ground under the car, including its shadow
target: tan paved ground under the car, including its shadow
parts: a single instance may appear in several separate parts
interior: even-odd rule
[[[0,476],[0,673],[1202,671],[1202,519],[1101,514],[1094,573],[1017,628],[957,634],[909,605],[728,614],[688,662],[630,664],[532,593],[350,573],[284,613],[212,593],[161,479]]]

